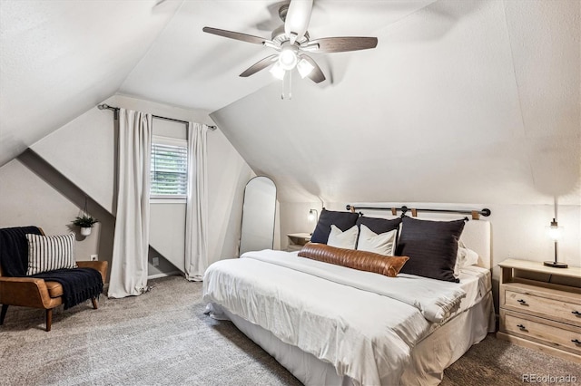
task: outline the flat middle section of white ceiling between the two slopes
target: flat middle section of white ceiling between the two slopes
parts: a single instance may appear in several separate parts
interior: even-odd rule
[[[311,38],[373,34],[434,1],[319,0],[309,33]],[[286,3],[184,1],[119,92],[214,111],[275,82],[268,71],[251,78],[238,76],[274,50],[204,34],[202,28],[212,26],[270,39],[272,30],[282,25],[278,10]]]

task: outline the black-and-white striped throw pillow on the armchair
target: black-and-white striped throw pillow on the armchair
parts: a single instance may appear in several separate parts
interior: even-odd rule
[[[26,240],[28,240],[26,275],[77,267],[74,262],[74,233],[61,236],[27,234]]]

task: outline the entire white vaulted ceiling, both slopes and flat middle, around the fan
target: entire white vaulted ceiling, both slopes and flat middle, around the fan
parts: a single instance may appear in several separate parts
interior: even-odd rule
[[[578,0],[315,0],[311,37],[377,36],[313,54],[291,99],[271,53],[276,1],[0,3],[0,166],[120,93],[204,109],[283,200],[581,204]]]

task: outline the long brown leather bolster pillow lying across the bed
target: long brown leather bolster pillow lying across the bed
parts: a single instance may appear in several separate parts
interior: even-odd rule
[[[300,249],[299,256],[389,277],[397,276],[401,267],[409,259],[408,256],[385,256],[373,252],[343,249],[317,243],[308,243],[303,246]]]

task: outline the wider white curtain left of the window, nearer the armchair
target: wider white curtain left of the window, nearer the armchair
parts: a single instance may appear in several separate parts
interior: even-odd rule
[[[152,115],[119,111],[118,196],[109,297],[147,290]]]

